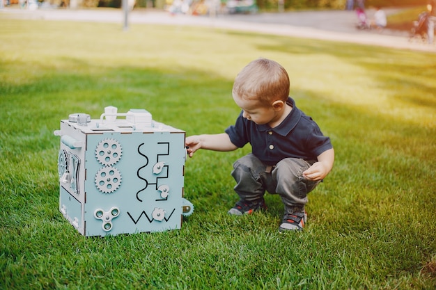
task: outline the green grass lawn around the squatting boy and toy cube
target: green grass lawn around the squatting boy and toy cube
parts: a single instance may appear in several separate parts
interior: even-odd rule
[[[182,26],[24,21],[0,15],[1,289],[434,289],[436,54]],[[196,152],[182,229],[96,238],[59,212],[59,121],[146,108],[188,135],[239,112],[235,75],[279,61],[291,95],[332,138],[334,169],[302,233],[283,205],[228,216],[232,163]]]

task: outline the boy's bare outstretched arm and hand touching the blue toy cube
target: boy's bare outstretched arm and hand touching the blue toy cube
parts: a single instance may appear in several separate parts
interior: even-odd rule
[[[203,134],[189,136],[185,140],[185,145],[187,147],[187,152],[189,157],[194,155],[198,149],[206,149],[213,151],[233,151],[238,149],[228,137],[228,134]]]

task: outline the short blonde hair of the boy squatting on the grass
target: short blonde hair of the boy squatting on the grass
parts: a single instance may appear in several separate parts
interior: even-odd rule
[[[277,100],[286,102],[289,97],[289,76],[279,63],[258,58],[236,76],[232,93],[233,97],[255,100],[264,106]]]

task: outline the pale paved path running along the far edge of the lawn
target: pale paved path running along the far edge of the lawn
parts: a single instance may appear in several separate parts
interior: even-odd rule
[[[396,9],[386,9],[387,14]],[[367,10],[368,17],[373,11]],[[21,10],[3,8],[0,17],[17,17],[24,19],[72,20],[80,22],[119,22],[123,27],[124,13],[120,9],[38,9]],[[354,11],[306,11],[292,13],[258,13],[253,15],[217,15],[191,16],[169,15],[159,10],[133,10],[129,13],[130,24],[166,24],[185,26],[208,26],[220,29],[252,31],[275,35],[288,35],[299,38],[354,42],[363,45],[376,45],[429,51],[436,53],[435,45],[428,45],[418,40],[410,41],[407,32],[384,30],[362,31],[356,29],[357,17]]]

